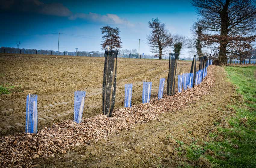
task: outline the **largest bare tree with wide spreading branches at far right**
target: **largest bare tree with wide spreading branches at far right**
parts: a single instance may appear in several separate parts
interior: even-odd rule
[[[235,44],[247,43],[249,37],[256,30],[256,1],[255,0],[191,0],[201,16],[198,23],[209,35],[214,35],[214,42],[218,46],[216,64],[226,64],[227,55],[233,54]],[[216,36],[217,35],[217,36]],[[238,36],[238,40],[236,37]],[[208,36],[209,37],[209,36]],[[251,38],[254,38],[251,36]],[[211,38],[210,38],[211,39]],[[255,38],[254,38],[255,39]],[[217,42],[216,42],[217,41]],[[230,45],[230,42],[232,43]]]

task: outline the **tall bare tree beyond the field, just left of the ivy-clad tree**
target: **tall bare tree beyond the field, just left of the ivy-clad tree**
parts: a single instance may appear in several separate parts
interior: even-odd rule
[[[164,50],[172,45],[171,34],[165,28],[165,23],[161,23],[158,18],[152,18],[152,20],[148,22],[148,26],[153,29],[147,36],[151,52],[158,52],[159,59],[161,60]]]

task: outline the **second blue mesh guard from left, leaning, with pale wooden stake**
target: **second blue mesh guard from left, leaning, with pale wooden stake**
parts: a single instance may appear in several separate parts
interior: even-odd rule
[[[85,101],[85,91],[74,92],[74,122],[80,124],[83,116],[83,106]]]

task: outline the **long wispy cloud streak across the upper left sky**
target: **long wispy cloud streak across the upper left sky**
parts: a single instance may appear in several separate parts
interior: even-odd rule
[[[12,12],[28,12],[44,15],[68,17],[70,20],[84,19],[89,22],[117,24],[133,27],[130,21],[120,18],[116,14],[96,14],[96,13],[72,13],[61,3],[43,3],[39,0],[2,0],[0,10]]]

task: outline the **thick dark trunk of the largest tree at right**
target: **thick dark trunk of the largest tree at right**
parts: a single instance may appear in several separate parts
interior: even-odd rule
[[[227,44],[228,44],[228,6],[230,0],[226,0],[226,4],[223,7],[223,10],[220,12],[220,20],[221,20],[221,27],[220,27],[220,50],[219,50],[219,57],[215,61],[217,65],[226,65],[228,58],[227,58]]]

